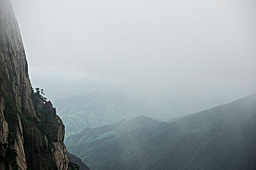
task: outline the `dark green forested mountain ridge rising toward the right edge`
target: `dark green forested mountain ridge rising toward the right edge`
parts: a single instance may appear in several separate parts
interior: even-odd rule
[[[256,95],[168,121],[121,119],[64,142],[92,170],[255,170]]]

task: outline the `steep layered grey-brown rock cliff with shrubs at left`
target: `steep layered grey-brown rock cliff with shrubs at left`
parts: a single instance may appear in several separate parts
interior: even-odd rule
[[[0,170],[67,170],[64,125],[33,92],[11,2],[0,0]]]

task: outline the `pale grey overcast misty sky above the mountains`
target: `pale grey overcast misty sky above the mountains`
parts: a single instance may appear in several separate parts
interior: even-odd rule
[[[256,0],[11,0],[29,71],[255,92]]]

